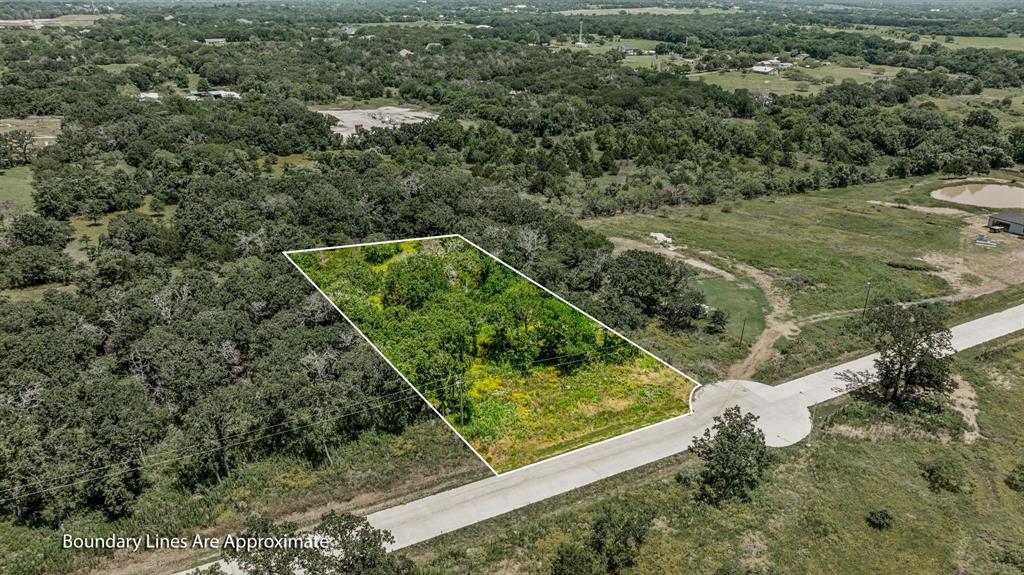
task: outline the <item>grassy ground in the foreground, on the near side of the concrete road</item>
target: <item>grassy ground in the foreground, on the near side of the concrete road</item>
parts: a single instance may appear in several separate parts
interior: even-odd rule
[[[1024,494],[1005,483],[1024,462],[1024,343],[958,356],[981,439],[950,407],[908,414],[844,397],[814,409],[814,431],[780,461],[751,502],[694,500],[698,461],[684,453],[417,545],[429,573],[549,573],[559,545],[588,543],[605,505],[650,510],[654,521],[630,574],[1019,573]],[[933,489],[923,466],[952,461],[967,487]],[[865,518],[886,510],[888,529]]]

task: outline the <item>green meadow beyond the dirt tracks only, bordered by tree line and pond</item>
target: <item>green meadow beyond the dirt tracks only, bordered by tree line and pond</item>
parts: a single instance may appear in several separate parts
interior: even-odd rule
[[[799,317],[857,308],[869,278],[879,298],[913,301],[950,293],[916,258],[956,252],[961,220],[868,204],[892,200],[907,183],[760,198],[728,211],[668,208],[583,224],[606,236],[636,239],[658,231],[678,245],[765,270],[776,276]]]

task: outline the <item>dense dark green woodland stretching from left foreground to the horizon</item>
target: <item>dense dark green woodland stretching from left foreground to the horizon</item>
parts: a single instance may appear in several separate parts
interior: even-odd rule
[[[745,353],[745,318],[710,306],[687,264],[613,253],[579,220],[1024,163],[1024,51],[921,44],[1019,37],[1012,3],[587,16],[584,43],[655,42],[692,70],[557,47],[580,17],[554,12],[580,2],[473,4],[131,2],[88,26],[0,30],[0,119],[59,118],[55,137],[0,133],[0,535],[19,537],[0,537],[0,571],[81,568],[91,559],[41,550],[69,524],[232,521],[261,474],[312,477],[429,422],[284,251],[459,233],[616,329]],[[0,18],[89,9],[6,2]],[[696,74],[798,55],[899,70],[787,95]],[[439,118],[342,140],[316,110],[385,104]],[[399,285],[388,298],[422,297]],[[477,408],[472,433],[493,437]],[[445,449],[418,460],[440,476],[465,455]],[[283,482],[314,490],[302,477]]]

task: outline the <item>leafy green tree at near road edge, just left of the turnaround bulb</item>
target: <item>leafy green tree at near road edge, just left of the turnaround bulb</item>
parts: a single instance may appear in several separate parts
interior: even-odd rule
[[[700,497],[712,503],[738,498],[749,500],[751,491],[765,480],[774,456],[765,435],[755,426],[758,416],[729,407],[715,417],[712,429],[693,441],[690,448],[703,459]]]

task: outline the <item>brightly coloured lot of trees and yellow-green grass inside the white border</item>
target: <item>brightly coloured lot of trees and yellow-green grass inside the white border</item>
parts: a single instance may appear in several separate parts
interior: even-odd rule
[[[688,409],[692,381],[461,238],[290,257],[499,472]]]

